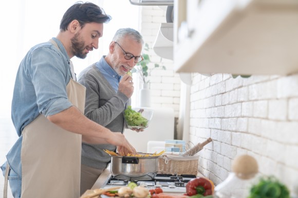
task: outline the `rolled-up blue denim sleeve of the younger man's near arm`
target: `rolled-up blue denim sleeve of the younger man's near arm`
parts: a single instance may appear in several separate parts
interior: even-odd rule
[[[28,72],[40,113],[53,115],[72,106],[66,92],[70,80],[69,67],[60,51],[47,47],[36,48],[32,51],[29,65]]]

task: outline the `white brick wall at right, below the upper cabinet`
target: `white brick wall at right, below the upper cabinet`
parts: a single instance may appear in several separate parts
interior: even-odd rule
[[[298,74],[232,78],[193,73],[190,140],[213,142],[200,153],[199,171],[215,184],[236,156],[250,154],[259,172],[275,175],[296,196],[298,186]]]

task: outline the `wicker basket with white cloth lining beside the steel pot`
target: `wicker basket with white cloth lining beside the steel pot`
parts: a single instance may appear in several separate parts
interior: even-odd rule
[[[191,174],[198,173],[199,156],[177,156],[163,154],[158,157],[157,172],[163,174]]]

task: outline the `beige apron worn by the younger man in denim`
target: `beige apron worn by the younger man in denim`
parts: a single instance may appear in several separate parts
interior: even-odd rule
[[[70,79],[68,100],[84,113],[86,88]],[[39,115],[23,130],[21,198],[80,197],[82,135]]]

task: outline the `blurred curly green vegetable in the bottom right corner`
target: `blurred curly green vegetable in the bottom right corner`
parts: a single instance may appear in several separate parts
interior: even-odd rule
[[[274,176],[269,176],[262,177],[258,184],[252,186],[248,198],[290,198],[290,192]]]

